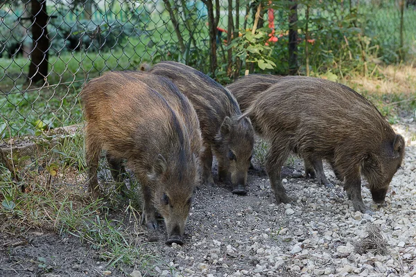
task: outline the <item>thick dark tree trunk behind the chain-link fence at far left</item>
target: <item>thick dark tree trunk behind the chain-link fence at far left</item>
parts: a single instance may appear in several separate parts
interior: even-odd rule
[[[33,51],[31,52],[31,65],[29,66],[28,78],[32,82],[45,80],[48,76],[48,21],[46,13],[46,0],[31,1],[31,17],[33,17],[32,39]]]

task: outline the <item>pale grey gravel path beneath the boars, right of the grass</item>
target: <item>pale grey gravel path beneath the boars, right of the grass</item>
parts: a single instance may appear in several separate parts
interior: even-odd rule
[[[395,129],[405,136],[408,147],[402,168],[390,184],[386,204],[373,204],[370,191],[363,186],[364,202],[374,215],[354,212],[342,184],[328,168],[325,173],[335,188],[292,178],[302,170],[300,161],[295,160],[283,180],[288,195],[297,198],[294,204],[276,205],[267,176],[258,172],[250,172],[249,193],[244,197],[221,186],[199,188],[184,246],[168,247],[163,239],[146,246],[171,267],[157,266],[153,273],[415,276],[416,125],[405,123]],[[135,274],[139,276],[138,271]]]

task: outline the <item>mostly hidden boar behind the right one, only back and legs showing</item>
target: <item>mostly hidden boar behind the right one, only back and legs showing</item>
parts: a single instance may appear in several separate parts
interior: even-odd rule
[[[284,76],[279,75],[266,75],[266,74],[250,74],[236,80],[232,84],[227,85],[227,89],[231,91],[236,100],[239,102],[241,111],[245,112],[248,107],[257,99],[257,96],[261,92],[266,91],[272,84],[276,84],[284,78]],[[336,173],[338,179],[342,180],[339,172],[336,170],[333,162],[331,162],[333,171]],[[254,166],[251,166],[254,168]],[[331,182],[327,179],[324,174],[322,161],[315,162],[315,167],[313,161],[309,161],[307,158],[304,159],[304,169],[305,176],[310,178],[317,178],[318,184],[324,185],[326,187],[333,187]]]

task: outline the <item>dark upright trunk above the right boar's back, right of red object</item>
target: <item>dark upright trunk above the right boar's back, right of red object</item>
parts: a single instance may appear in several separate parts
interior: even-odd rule
[[[291,0],[289,13],[289,75],[297,73],[297,0]]]

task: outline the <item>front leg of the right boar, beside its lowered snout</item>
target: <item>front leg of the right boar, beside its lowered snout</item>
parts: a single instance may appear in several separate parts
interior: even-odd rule
[[[361,197],[361,177],[360,171],[357,169],[353,173],[349,172],[345,176],[344,190],[347,192],[348,199],[352,201],[355,211],[361,213],[372,213],[363,202]]]

